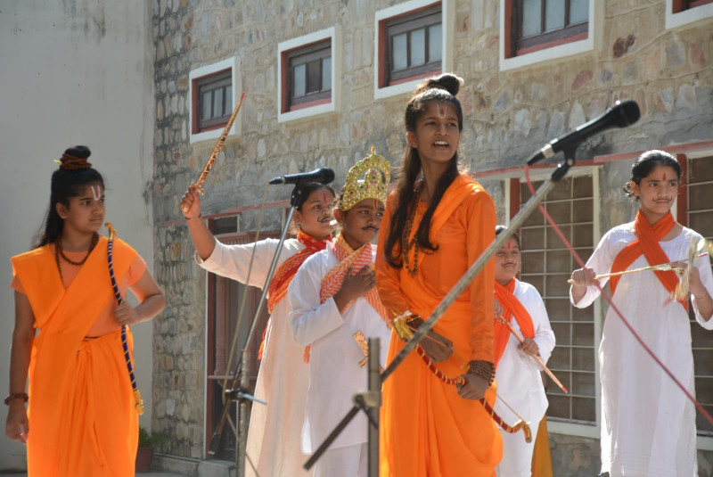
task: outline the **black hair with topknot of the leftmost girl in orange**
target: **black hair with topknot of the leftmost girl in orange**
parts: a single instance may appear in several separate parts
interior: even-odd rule
[[[64,220],[57,213],[57,204],[70,207],[70,199],[78,197],[87,185],[99,184],[104,187],[104,179],[87,158],[92,154],[85,145],[70,147],[61,156],[60,168],[52,174],[50,185],[50,206],[45,215],[45,222],[40,228],[35,247],[53,243],[64,228]]]

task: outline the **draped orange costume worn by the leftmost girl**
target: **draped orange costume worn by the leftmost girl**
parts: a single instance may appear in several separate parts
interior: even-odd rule
[[[49,246],[12,258],[40,330],[29,365],[29,475],[134,474],[138,415],[120,333],[84,340],[114,300],[106,249],[101,237],[66,290]],[[119,282],[135,255],[115,241]]]

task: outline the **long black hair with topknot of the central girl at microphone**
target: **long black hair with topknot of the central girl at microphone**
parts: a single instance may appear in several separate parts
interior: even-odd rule
[[[455,114],[458,117],[458,130],[463,131],[463,108],[461,102],[455,97],[463,83],[463,79],[457,76],[446,73],[438,77],[429,78],[425,83],[418,86],[414,91],[414,95],[406,104],[405,123],[406,131],[414,133],[416,130],[416,121],[426,111],[430,103],[450,103],[455,109]],[[391,267],[400,268],[401,263],[401,238],[406,227],[408,212],[412,207],[416,206],[418,197],[416,194],[416,181],[421,175],[421,157],[418,149],[414,149],[410,144],[406,144],[404,151],[404,160],[401,162],[401,168],[398,171],[397,184],[397,208],[394,210],[394,215],[391,218],[389,226],[389,236],[386,239],[386,261]],[[456,177],[460,174],[460,164],[458,162],[458,152],[456,151],[448,162],[448,168],[444,174],[438,178],[436,190],[430,198],[429,208],[423,214],[421,224],[416,230],[416,240],[418,245],[424,251],[436,251],[438,245],[430,243],[430,220],[433,218],[433,212],[438,207],[443,194],[449,185],[453,183]]]

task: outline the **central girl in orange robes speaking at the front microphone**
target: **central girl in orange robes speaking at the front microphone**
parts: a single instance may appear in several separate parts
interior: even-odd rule
[[[495,239],[493,200],[459,169],[462,81],[430,78],[406,105],[406,152],[387,203],[376,279],[390,317],[411,329]],[[421,341],[440,371],[464,373],[466,384],[439,380],[416,353],[384,382],[382,477],[495,475],[503,440],[477,400],[495,400],[494,280],[491,261]],[[389,361],[404,344],[391,333]]]

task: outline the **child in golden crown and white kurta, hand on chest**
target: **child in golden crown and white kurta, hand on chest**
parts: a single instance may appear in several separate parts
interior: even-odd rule
[[[352,407],[354,393],[365,388],[367,370],[360,364],[365,355],[358,338],[389,342],[386,309],[374,288],[376,251],[371,244],[381,226],[389,169],[389,162],[373,150],[349,169],[334,210],[340,234],[307,259],[290,284],[290,326],[298,344],[307,347],[309,361],[302,429],[306,454],[316,451]],[[357,415],[317,461],[315,477],[365,477],[366,430],[366,416]]]

